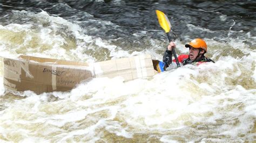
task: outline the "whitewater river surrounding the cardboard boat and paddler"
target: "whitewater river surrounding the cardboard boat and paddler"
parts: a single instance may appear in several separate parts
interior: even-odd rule
[[[3,57],[88,63],[203,38],[215,61],[148,79],[94,78],[69,92],[4,89]],[[0,142],[255,142],[256,2],[1,1]]]

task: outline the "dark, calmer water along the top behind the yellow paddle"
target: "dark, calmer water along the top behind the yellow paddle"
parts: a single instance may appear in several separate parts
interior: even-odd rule
[[[159,34],[160,27],[155,13],[157,9],[165,12],[169,17],[175,39],[187,40],[188,36],[192,39],[201,37],[224,40],[234,22],[231,29],[240,33],[231,34],[230,38],[241,38],[247,32],[250,32],[252,37],[256,35],[256,2],[254,1],[5,1],[1,4],[0,20],[3,25],[22,24],[31,19],[25,15],[16,16],[11,12],[12,10],[32,12],[44,10],[50,15],[62,17],[70,22],[81,22],[79,26],[87,29],[85,34],[103,39],[125,38],[131,42],[130,44],[134,40],[142,41],[144,45],[145,36],[166,40],[165,35]],[[119,27],[105,26],[98,22],[99,19]],[[199,26],[212,32],[192,31],[187,25]],[[97,28],[98,31],[95,32],[90,28]],[[132,34],[139,31],[147,31],[147,34],[140,39],[134,38]],[[253,44],[250,40],[245,39],[244,42]],[[133,46],[139,48],[137,45]]]

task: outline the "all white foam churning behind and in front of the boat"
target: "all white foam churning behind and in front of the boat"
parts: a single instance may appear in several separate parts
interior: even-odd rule
[[[97,45],[109,50],[112,59],[150,53],[161,60],[162,55],[156,51],[161,48],[164,51],[167,46],[166,43],[162,47],[158,40],[151,39],[151,48],[132,51],[130,54],[131,51],[111,45],[110,41],[83,34],[86,30],[78,25],[60,17],[49,16],[45,11],[37,14],[24,13],[45,20],[50,26],[38,25],[38,31],[31,29],[31,24],[1,25],[0,28],[15,32],[26,31],[23,46],[36,37],[40,39],[40,44],[51,45],[44,52],[36,51],[38,47],[28,47],[24,53],[29,55],[93,62],[95,57],[84,53],[87,49],[94,48],[91,45]],[[190,30],[212,32],[194,25],[187,26]],[[77,47],[62,47],[66,40],[55,32],[63,32],[58,31],[63,27],[67,27],[66,32],[75,37]],[[134,36],[143,34],[146,33],[142,31]],[[253,38],[250,33],[245,37]],[[227,40],[225,44],[230,45],[231,50],[241,49],[245,55],[242,58],[221,56],[215,63],[198,67],[187,65],[157,74],[150,79],[124,82],[122,77],[93,78],[77,85],[70,92],[36,95],[32,91],[25,91],[18,95],[22,99],[11,99],[9,93],[10,99],[5,99],[0,111],[0,133],[4,138],[15,133],[21,137],[20,142],[67,142],[74,141],[75,138],[95,142],[102,139],[105,132],[124,138],[133,138],[138,134],[156,135],[155,138],[160,138],[163,142],[176,142],[173,137],[191,137],[195,141],[253,140],[255,133],[252,133],[252,128],[256,116],[253,87],[256,81],[255,49],[241,39],[224,40]],[[209,51],[213,53],[213,58],[223,54],[219,46],[222,42],[213,39],[206,41],[209,49],[215,48]],[[179,52],[188,52],[184,43],[176,40],[176,44]],[[15,49],[20,48],[16,47],[12,51],[4,42],[0,46],[0,55],[10,57],[16,56]],[[254,79],[254,83],[247,78]],[[247,85],[244,81],[252,85]],[[0,81],[0,84],[0,95],[4,96],[3,82]],[[209,134],[220,139],[208,138]],[[242,137],[243,134],[245,137]]]

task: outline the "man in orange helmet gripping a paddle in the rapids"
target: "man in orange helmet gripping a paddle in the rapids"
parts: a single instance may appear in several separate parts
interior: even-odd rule
[[[172,61],[176,62],[175,59],[172,60],[172,47],[175,48],[176,45],[171,41],[163,56],[163,62],[166,63],[166,67],[169,67]],[[178,56],[178,61],[183,65],[200,65],[203,62],[214,62],[204,56],[207,52],[207,45],[203,39],[194,39],[189,44],[186,44],[185,47],[190,48],[190,54]]]

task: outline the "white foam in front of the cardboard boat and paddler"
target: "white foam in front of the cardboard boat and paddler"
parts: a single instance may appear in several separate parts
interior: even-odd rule
[[[238,63],[245,63],[245,66],[251,68],[251,58],[253,56],[247,56],[241,61],[228,56],[220,58],[215,64],[208,63],[198,67],[188,65],[166,71],[151,80],[138,79],[124,83],[121,77],[94,78],[79,84],[71,92],[54,92],[54,96],[62,98],[56,102],[47,103],[50,95],[29,96],[27,94],[31,93],[24,92],[23,96],[27,98],[12,104],[6,110],[9,115],[2,112],[1,121],[4,121],[2,124],[14,126],[45,123],[49,127],[48,132],[72,123],[73,130],[55,136],[58,141],[67,141],[79,135],[95,141],[99,138],[96,135],[100,134],[99,128],[125,138],[133,138],[134,134],[145,128],[149,133],[162,133],[166,130],[178,132],[191,128],[190,125],[193,124],[215,126],[217,120],[224,120],[217,129],[210,128],[210,131],[235,138],[251,130],[256,108],[253,100],[255,90],[247,90],[240,85],[231,87],[225,79],[238,79],[245,70]],[[245,108],[240,110],[237,104],[243,104]],[[234,108],[229,108],[232,105]],[[26,113],[33,113],[36,119],[11,121],[17,114],[14,110],[21,111],[22,106]],[[42,107],[48,111],[42,110]],[[97,116],[101,114],[104,116]],[[76,127],[80,120],[90,118],[95,118],[95,124],[83,129],[79,125]],[[233,125],[232,119],[236,118],[240,123]],[[120,125],[123,122],[116,119],[123,120],[127,126]],[[169,135],[163,135],[160,141],[175,140]]]

